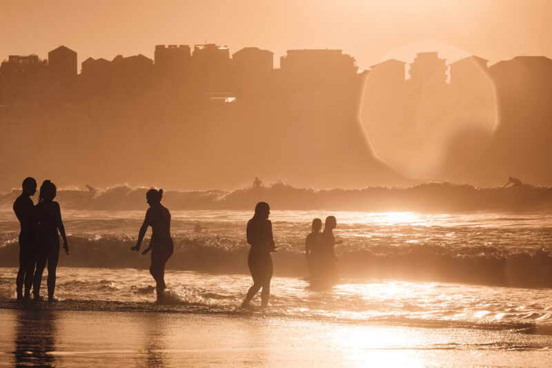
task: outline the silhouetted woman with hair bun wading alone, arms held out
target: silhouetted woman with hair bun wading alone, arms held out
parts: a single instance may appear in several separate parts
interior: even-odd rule
[[[170,212],[161,204],[161,197],[163,197],[163,189],[159,189],[159,191],[150,189],[146,193],[146,200],[150,208],[146,211],[146,218],[144,218],[144,224],[142,224],[138,233],[136,245],[130,248],[132,251],[140,250],[148,226],[151,226],[150,246],[142,254],[148,253],[151,249],[150,273],[155,280],[157,302],[159,303],[164,302],[164,291],[166,289],[165,264],[175,249],[172,238],[170,238]]]

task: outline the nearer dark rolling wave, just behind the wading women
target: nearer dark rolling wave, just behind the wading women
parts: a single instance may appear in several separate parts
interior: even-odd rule
[[[241,238],[218,235],[175,235],[175,253],[167,269],[206,273],[248,274],[248,245]],[[60,258],[66,267],[148,269],[149,255],[130,251],[135,239],[126,235],[70,236],[70,256]],[[146,241],[147,242],[147,241]],[[17,267],[19,249],[13,238],[0,248],[0,267]],[[466,282],[513,287],[552,287],[550,249],[509,251],[502,246],[443,246],[440,244],[351,243],[337,249],[338,268],[344,278],[395,278]],[[282,244],[273,253],[275,274],[308,275],[302,243]],[[78,287],[78,285],[73,285]],[[99,287],[117,288],[109,280]],[[148,289],[149,292],[150,290]]]

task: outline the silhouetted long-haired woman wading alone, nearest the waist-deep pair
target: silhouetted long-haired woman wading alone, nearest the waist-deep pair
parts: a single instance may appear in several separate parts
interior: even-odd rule
[[[242,307],[247,307],[251,299],[261,292],[261,307],[268,307],[270,296],[270,279],[273,273],[270,252],[276,251],[272,236],[272,222],[268,220],[270,206],[266,202],[259,202],[255,206],[255,215],[247,223],[247,242],[251,246],[247,258],[247,265],[253,278],[253,286],[249,288]]]

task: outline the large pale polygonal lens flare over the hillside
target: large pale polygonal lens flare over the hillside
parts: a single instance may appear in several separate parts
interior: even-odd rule
[[[406,64],[406,55],[415,58]],[[376,157],[408,177],[444,180],[484,155],[497,125],[495,88],[488,61],[469,55],[426,42],[372,66],[360,120]]]

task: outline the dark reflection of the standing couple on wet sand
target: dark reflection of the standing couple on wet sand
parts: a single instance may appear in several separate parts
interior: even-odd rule
[[[55,336],[57,333],[55,311],[17,311],[15,327],[15,366],[54,367]]]

